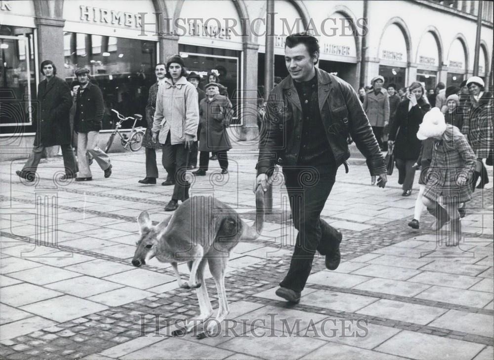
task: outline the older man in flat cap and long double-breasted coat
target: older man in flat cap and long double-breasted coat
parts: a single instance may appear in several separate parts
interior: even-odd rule
[[[199,104],[199,170],[192,174],[206,175],[209,165],[209,151],[214,151],[218,157],[221,174],[228,173],[227,151],[232,148],[226,127],[232,116],[232,103],[226,96],[218,94],[219,87],[215,82],[206,85],[206,98]]]

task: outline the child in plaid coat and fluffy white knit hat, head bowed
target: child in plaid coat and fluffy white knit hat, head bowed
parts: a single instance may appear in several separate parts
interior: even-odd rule
[[[436,217],[437,230],[451,219],[446,245],[456,246],[461,240],[458,208],[472,199],[470,181],[475,170],[475,153],[459,129],[446,124],[439,108],[433,108],[424,116],[417,138],[434,139],[422,201],[427,211]]]

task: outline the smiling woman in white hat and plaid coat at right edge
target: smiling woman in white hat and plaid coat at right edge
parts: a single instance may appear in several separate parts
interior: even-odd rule
[[[482,189],[489,182],[487,169],[482,159],[493,156],[493,95],[485,91],[484,80],[478,76],[470,77],[466,86],[470,92],[469,104],[467,104],[463,117],[463,128],[468,143],[477,157],[475,177],[472,186],[475,189],[477,180],[481,177],[479,186]]]

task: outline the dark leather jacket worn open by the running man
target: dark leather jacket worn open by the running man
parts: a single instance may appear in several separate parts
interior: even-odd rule
[[[386,165],[359,97],[347,82],[316,68],[321,119],[336,167],[350,157],[350,134],[366,157],[371,175],[386,173]],[[271,176],[276,164],[296,166],[302,135],[302,109],[290,76],[276,86],[266,106],[260,131],[257,175]]]

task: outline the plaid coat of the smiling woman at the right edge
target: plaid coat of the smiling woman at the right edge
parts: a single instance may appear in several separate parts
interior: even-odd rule
[[[479,101],[470,98],[463,117],[461,132],[478,159],[486,159],[493,151],[493,96],[485,91]]]

